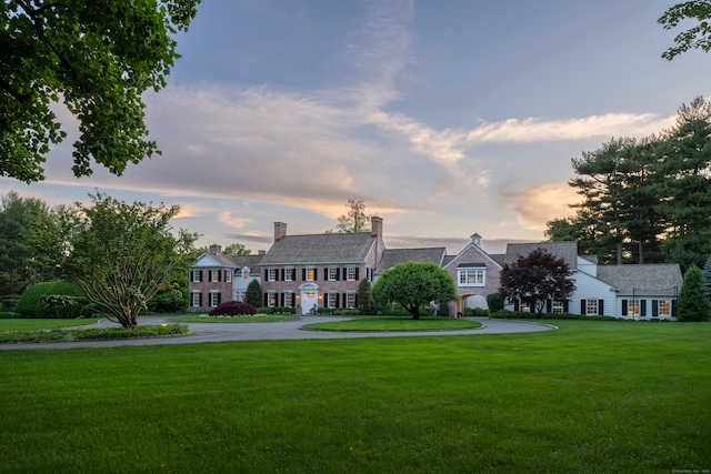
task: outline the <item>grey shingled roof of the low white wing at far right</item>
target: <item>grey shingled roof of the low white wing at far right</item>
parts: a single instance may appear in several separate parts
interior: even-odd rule
[[[617,288],[619,294],[677,294],[682,275],[677,263],[599,265],[598,280]]]

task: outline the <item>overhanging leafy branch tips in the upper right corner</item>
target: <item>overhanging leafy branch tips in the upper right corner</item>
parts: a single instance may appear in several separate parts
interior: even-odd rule
[[[657,21],[664,30],[674,29],[685,20],[697,20],[699,23],[682,31],[674,38],[677,46],[662,53],[662,58],[671,61],[690,49],[701,48],[704,52],[711,50],[711,2],[708,0],[689,0],[669,8]]]

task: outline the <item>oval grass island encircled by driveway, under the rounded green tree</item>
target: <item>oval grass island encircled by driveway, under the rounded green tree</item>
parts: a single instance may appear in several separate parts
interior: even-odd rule
[[[481,327],[477,321],[427,316],[353,316],[352,320],[304,324],[303,327],[322,331],[451,331]]]

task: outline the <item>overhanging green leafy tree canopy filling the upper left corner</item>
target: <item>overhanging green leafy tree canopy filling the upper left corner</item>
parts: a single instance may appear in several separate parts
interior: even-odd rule
[[[91,160],[121,175],[160,153],[147,140],[141,94],[166,87],[174,34],[200,0],[6,0],[0,3],[0,175],[42,180],[46,154],[67,133],[60,100],[79,121],[74,175]]]

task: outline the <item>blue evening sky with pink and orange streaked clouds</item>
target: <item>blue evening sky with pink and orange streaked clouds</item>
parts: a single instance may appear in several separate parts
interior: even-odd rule
[[[76,120],[46,180],[0,178],[49,205],[97,190],[179,204],[197,245],[322,233],[362,200],[388,248],[469,236],[499,253],[580,201],[571,159],[673,125],[711,93],[711,54],[661,58],[675,0],[204,0],[182,56],[144,94],[161,155],[122,177],[71,173]]]

